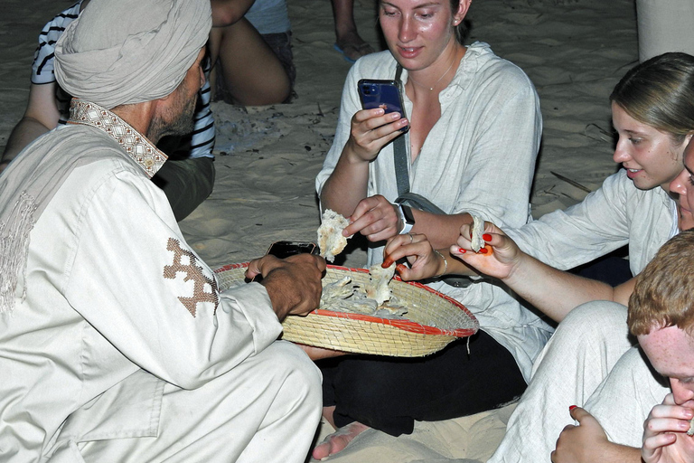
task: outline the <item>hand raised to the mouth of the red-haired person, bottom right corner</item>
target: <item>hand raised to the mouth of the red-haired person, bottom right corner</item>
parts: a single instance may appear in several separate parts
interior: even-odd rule
[[[677,405],[672,394],[653,407],[643,423],[641,457],[645,463],[694,461],[694,437],[688,436],[694,412]]]

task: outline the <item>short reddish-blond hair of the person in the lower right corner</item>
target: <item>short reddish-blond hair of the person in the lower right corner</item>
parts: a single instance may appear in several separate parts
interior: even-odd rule
[[[636,277],[626,323],[633,335],[667,326],[694,330],[694,229],[663,244]]]

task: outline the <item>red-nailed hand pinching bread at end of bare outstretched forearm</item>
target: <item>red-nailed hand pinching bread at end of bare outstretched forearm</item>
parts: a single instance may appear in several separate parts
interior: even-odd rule
[[[492,222],[484,222],[483,240],[486,244],[479,252],[472,250],[472,225],[460,227],[460,236],[451,246],[451,255],[463,260],[480,273],[497,279],[508,279],[526,254],[515,241]]]

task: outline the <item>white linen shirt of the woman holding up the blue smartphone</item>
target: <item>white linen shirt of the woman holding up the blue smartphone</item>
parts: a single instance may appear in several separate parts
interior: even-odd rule
[[[342,107],[333,146],[316,190],[333,173],[350,136],[352,115],[361,109],[360,79],[394,79],[396,61],[390,52],[357,61],[342,90]],[[407,82],[408,72],[402,73]],[[403,95],[406,115],[412,102]],[[474,213],[483,219],[520,227],[530,217],[530,184],[539,149],[542,120],[537,93],[521,69],[494,55],[486,43],[473,43],[455,77],[439,95],[441,117],[429,132],[410,169],[410,191],[422,194],[445,213]],[[411,156],[408,156],[411,158]],[[380,150],[370,164],[368,195],[398,197],[393,146]],[[380,262],[382,248],[369,250],[369,265]],[[430,285],[468,307],[480,328],[506,347],[526,381],[535,356],[552,329],[521,307],[508,288],[476,281],[468,288],[443,282]]]

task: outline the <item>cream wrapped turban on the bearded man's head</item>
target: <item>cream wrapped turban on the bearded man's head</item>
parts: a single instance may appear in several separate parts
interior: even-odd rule
[[[91,0],[55,44],[55,78],[106,109],[164,98],[211,24],[210,0]]]

